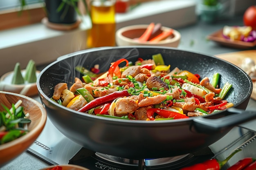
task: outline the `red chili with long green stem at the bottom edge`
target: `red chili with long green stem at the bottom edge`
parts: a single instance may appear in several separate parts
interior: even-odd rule
[[[233,157],[237,152],[239,152],[241,149],[235,150],[231,155],[229,155],[225,160],[218,161],[217,159],[210,159],[207,161],[204,161],[202,163],[197,163],[193,166],[185,167],[180,170],[220,170],[222,166],[227,163],[227,161]]]

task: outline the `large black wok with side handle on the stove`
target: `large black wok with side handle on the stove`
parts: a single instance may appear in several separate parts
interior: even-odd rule
[[[110,63],[120,58],[135,62],[161,53],[171,69],[212,77],[220,73],[220,87],[230,82],[233,87],[226,99],[235,108],[204,117],[165,121],[131,121],[97,117],[80,113],[53,102],[53,88],[60,82],[71,85],[81,75],[75,66],[91,68],[99,64],[107,71]],[[41,71],[37,80],[40,100],[54,126],[67,138],[90,150],[130,159],[171,157],[205,148],[227,134],[231,128],[256,117],[245,112],[252,93],[252,80],[237,66],[214,56],[167,47],[127,46],[102,47],[60,57]]]

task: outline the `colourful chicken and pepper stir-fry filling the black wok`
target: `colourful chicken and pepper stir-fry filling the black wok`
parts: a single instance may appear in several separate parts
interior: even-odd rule
[[[122,62],[125,66],[119,68]],[[232,85],[227,82],[218,87],[220,73],[210,83],[208,77],[170,68],[161,54],[153,55],[152,60],[138,58],[135,65],[120,59],[94,81],[75,81],[76,92],[66,84],[60,83],[59,89],[56,85],[54,100],[79,112],[148,121],[207,115],[233,106],[224,100]]]

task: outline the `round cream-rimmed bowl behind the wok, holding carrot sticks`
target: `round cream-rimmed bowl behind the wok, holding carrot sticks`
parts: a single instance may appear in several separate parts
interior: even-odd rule
[[[132,25],[123,27],[116,32],[116,43],[118,46],[134,46],[134,45],[152,45],[152,46],[168,46],[177,47],[180,44],[180,33],[173,29],[173,35],[169,36],[165,40],[155,42],[138,42],[136,38],[139,38],[146,28],[147,24]],[[162,26],[162,31],[168,31],[171,28]]]

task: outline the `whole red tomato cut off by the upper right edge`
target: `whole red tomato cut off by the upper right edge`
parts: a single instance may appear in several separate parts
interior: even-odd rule
[[[245,11],[243,21],[245,26],[252,26],[252,29],[256,30],[256,5],[249,7]]]

